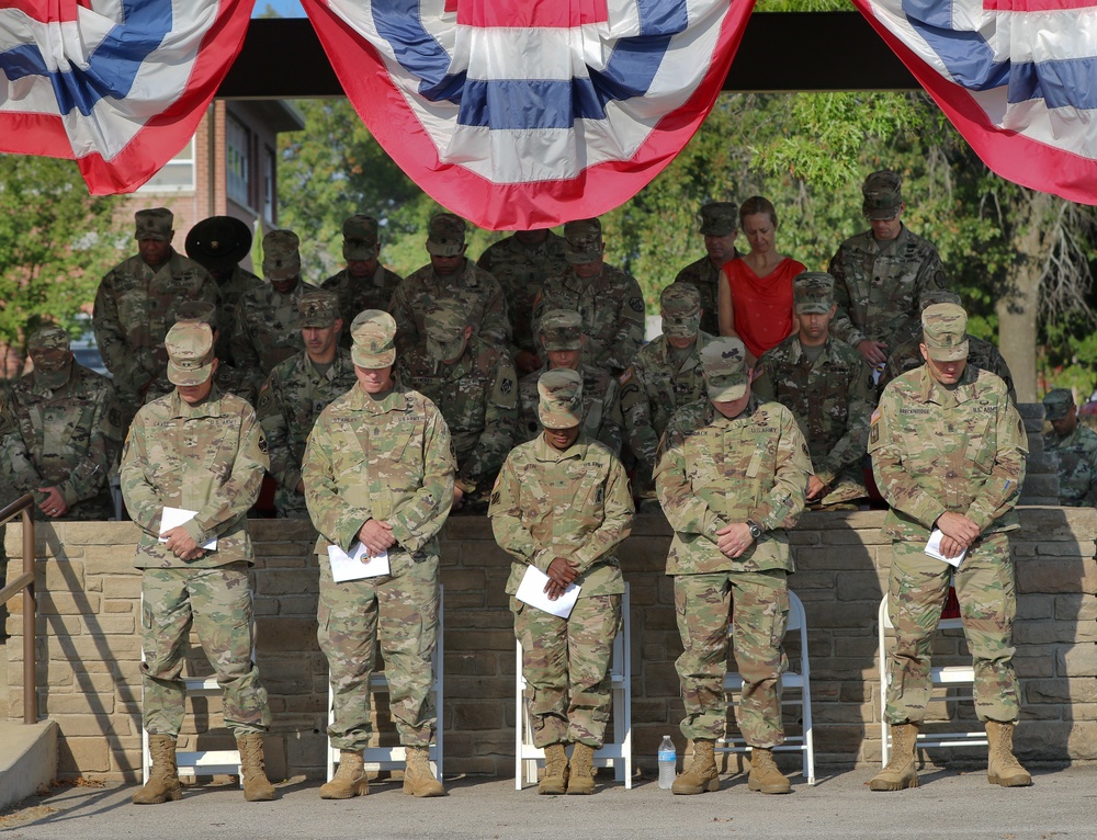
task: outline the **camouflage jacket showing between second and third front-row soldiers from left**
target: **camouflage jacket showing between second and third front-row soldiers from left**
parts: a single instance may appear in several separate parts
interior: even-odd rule
[[[518,423],[518,374],[507,352],[473,336],[453,364],[432,359],[426,344],[396,364],[403,385],[441,408],[462,488],[472,492],[485,479],[489,485],[514,445]],[[487,486],[480,489],[487,492]]]

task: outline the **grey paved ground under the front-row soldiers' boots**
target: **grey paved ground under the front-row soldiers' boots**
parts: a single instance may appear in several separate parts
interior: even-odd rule
[[[235,787],[191,787],[178,803],[129,804],[133,787],[71,787],[0,818],[11,838],[744,838],[749,840],[1092,840],[1097,838],[1097,767],[1038,770],[1036,785],[1005,790],[985,773],[932,771],[921,786],[870,793],[871,770],[793,776],[790,796],[725,779],[719,793],[672,796],[654,781],[633,790],[608,782],[595,796],[538,796],[513,782],[457,779],[450,796],[412,799],[396,783],[365,798],[324,802],[318,783],[280,785],[274,803],[245,803]]]

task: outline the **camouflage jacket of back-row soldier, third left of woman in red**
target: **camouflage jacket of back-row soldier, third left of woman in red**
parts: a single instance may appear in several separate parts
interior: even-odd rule
[[[408,353],[427,336],[423,316],[439,300],[457,299],[473,334],[500,350],[510,347],[510,319],[499,281],[472,260],[463,270],[439,277],[428,263],[408,274],[393,292],[388,311],[396,319],[396,350]]]

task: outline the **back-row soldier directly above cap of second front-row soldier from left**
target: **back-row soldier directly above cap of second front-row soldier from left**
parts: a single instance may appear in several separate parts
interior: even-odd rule
[[[339,317],[350,323],[365,309],[387,309],[396,286],[404,279],[381,264],[381,238],[377,219],[357,213],[343,222],[343,259],[347,268],[324,281],[326,288],[339,296]],[[339,338],[350,350],[350,330]]]

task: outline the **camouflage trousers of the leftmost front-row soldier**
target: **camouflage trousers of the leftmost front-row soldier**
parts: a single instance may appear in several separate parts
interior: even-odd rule
[[[248,564],[213,569],[145,569],[142,575],[143,724],[149,735],[178,737],[183,723],[183,645],[194,627],[225,696],[234,735],[264,733],[267,690],[252,661],[255,625]]]

